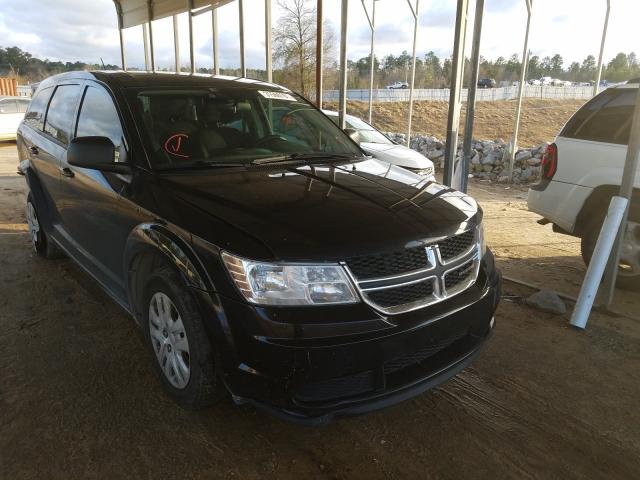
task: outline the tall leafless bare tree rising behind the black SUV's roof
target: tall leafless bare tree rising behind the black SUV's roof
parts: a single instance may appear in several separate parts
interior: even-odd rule
[[[307,95],[314,84],[316,66],[316,7],[309,0],[278,0],[282,11],[273,29],[274,57],[291,75],[300,93]],[[325,65],[333,51],[333,30],[324,26]]]

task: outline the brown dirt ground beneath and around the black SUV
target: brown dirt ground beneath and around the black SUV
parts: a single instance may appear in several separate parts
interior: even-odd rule
[[[230,400],[183,410],[133,321],[71,261],[33,254],[15,157],[0,147],[0,478],[638,478],[637,295],[578,332],[569,313],[532,310],[532,290],[505,282],[495,335],[471,368],[325,427]],[[505,274],[577,292],[577,242],[537,225],[524,189],[472,193]]]

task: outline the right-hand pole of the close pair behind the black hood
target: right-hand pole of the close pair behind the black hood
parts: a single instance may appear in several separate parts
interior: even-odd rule
[[[482,37],[482,16],[484,0],[476,0],[476,16],[473,23],[473,45],[471,48],[471,78],[469,79],[469,95],[467,98],[467,118],[464,124],[464,142],[462,146],[462,169],[460,190],[467,191],[469,184],[469,164],[471,163],[471,142],[473,141],[473,121],[476,113],[476,91],[480,73],[480,38]]]

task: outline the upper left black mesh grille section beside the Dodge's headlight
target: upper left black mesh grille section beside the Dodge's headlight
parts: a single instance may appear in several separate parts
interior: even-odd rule
[[[429,266],[424,247],[353,257],[347,260],[347,265],[358,280],[389,277]]]

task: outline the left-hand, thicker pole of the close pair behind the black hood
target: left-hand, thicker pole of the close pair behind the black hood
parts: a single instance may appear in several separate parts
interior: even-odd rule
[[[447,116],[447,140],[444,149],[445,185],[453,186],[453,174],[458,151],[458,130],[460,128],[460,89],[462,88],[462,67],[464,65],[464,38],[467,27],[468,0],[458,0],[456,10],[456,30],[453,43],[451,65],[451,86],[449,91],[449,113]]]

